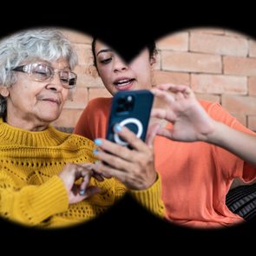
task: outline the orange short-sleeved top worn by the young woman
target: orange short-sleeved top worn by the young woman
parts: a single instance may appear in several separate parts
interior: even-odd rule
[[[200,103],[213,119],[253,133],[219,103]],[[89,102],[76,124],[75,134],[92,140],[104,138],[110,104],[111,98],[97,98]],[[243,181],[253,180],[255,168],[225,149],[205,142],[170,141],[157,136],[154,151],[169,220],[196,227],[227,226],[243,221],[226,207],[226,193],[236,177]]]

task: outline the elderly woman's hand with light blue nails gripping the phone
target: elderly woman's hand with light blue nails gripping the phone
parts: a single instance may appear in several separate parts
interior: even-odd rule
[[[119,126],[120,128],[120,126]],[[114,176],[130,189],[142,190],[152,186],[157,174],[154,169],[153,139],[148,144],[137,138],[128,128],[115,132],[133,148],[126,148],[114,142],[97,139],[95,172]]]

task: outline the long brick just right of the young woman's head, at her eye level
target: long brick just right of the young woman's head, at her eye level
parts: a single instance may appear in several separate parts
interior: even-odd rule
[[[162,69],[170,71],[220,73],[220,56],[161,51]]]

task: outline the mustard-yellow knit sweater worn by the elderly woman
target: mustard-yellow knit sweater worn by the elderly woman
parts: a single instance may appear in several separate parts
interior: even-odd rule
[[[14,128],[0,118],[0,214],[29,226],[69,226],[103,213],[126,192],[114,178],[91,179],[102,192],[69,205],[57,174],[67,163],[95,161],[93,141],[49,126],[41,132]],[[141,205],[163,216],[160,178],[143,191],[130,191]]]

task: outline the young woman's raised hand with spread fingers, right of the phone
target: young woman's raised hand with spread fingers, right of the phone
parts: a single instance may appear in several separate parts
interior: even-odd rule
[[[161,84],[151,90],[167,102],[166,108],[154,108],[151,116],[173,123],[172,129],[159,128],[158,135],[174,141],[204,141],[213,133],[214,121],[185,85]]]

